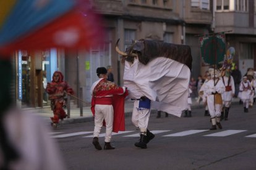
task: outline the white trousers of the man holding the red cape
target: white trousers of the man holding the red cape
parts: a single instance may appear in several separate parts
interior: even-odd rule
[[[99,137],[103,120],[106,122],[105,142],[110,142],[113,131],[114,110],[112,105],[95,105],[93,137]]]

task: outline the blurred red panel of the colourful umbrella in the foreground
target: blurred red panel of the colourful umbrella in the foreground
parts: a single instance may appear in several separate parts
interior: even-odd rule
[[[90,49],[102,42],[103,29],[96,14],[89,10],[73,9],[38,30],[0,47],[0,54],[9,55],[17,50],[45,50],[51,47]]]

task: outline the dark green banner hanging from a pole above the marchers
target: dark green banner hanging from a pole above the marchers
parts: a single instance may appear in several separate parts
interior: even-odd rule
[[[218,65],[226,54],[225,34],[213,34],[199,38],[202,65]]]

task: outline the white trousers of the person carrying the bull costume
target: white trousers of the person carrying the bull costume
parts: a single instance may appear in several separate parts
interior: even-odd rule
[[[147,132],[148,127],[148,119],[150,117],[150,109],[142,109],[139,108],[139,100],[135,100],[134,102],[134,110],[132,111],[132,123],[134,126],[140,128],[140,132]]]

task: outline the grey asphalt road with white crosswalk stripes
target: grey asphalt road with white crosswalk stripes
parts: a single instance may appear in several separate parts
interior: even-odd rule
[[[228,121],[221,121],[223,129],[214,131],[203,113],[198,108],[192,110],[192,118],[164,118],[163,113],[156,118],[152,111],[148,129],[156,137],[147,149],[134,146],[139,131],[130,116],[126,132],[112,137],[114,150],[93,147],[93,122],[63,124],[53,129],[52,137],[67,169],[256,169],[256,107],[244,113],[242,105],[233,105]],[[104,137],[100,144],[104,146]]]

